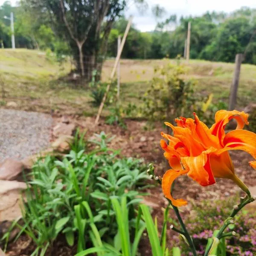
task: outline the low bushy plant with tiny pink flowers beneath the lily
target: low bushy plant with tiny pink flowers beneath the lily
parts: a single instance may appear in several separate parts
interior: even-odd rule
[[[238,201],[238,197],[231,197],[227,200],[216,200],[214,202],[209,200],[201,201],[200,204],[193,205],[193,212],[186,218],[185,224],[192,235],[198,255],[204,255],[205,247],[209,239],[214,235],[212,230],[216,230],[224,223],[223,217],[227,218],[230,214],[230,207]],[[242,209],[234,218],[234,224],[227,227],[227,233],[236,232],[235,236],[228,236],[225,238],[225,254],[217,255],[248,255],[253,256],[256,253],[256,214],[255,212],[248,212]],[[176,243],[175,243],[176,241]],[[175,239],[174,243],[181,243],[183,241]],[[226,245],[228,244],[228,245]],[[183,247],[183,252],[190,255]]]

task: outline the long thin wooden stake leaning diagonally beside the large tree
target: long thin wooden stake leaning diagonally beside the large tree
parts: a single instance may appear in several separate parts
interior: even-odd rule
[[[109,89],[110,89],[111,82],[112,82],[113,77],[114,77],[114,75],[115,75],[117,63],[118,63],[118,61],[119,61],[119,58],[121,57],[122,49],[123,49],[123,47],[124,47],[124,45],[125,45],[125,40],[126,40],[126,37],[127,37],[127,35],[128,35],[130,26],[131,26],[132,18],[133,18],[133,17],[131,16],[130,19],[129,19],[129,21],[128,21],[128,24],[127,24],[127,26],[126,26],[125,34],[124,34],[124,36],[123,36],[123,38],[122,38],[121,46],[120,46],[119,52],[117,53],[116,61],[115,61],[115,64],[114,64],[114,66],[113,66],[113,70],[112,70],[112,73],[111,73],[111,76],[110,76],[110,83],[109,83],[108,86],[107,86],[106,92],[105,92],[104,97],[103,97],[103,99],[102,99],[102,102],[101,102],[101,104],[100,104],[100,106],[99,106],[99,111],[98,111],[98,113],[97,113],[97,116],[96,116],[94,125],[97,125],[97,123],[99,122],[99,117],[100,117],[100,115],[101,115],[101,113],[102,113],[102,109],[103,109],[103,107],[104,107],[104,103],[105,103],[105,101],[106,101],[106,98],[107,98],[107,95],[108,95],[108,91],[109,91]]]

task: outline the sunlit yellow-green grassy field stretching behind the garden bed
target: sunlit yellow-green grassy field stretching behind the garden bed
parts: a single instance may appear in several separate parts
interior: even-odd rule
[[[170,60],[121,60],[121,98],[140,104],[148,82],[154,76],[154,67]],[[104,63],[102,80],[108,81],[114,60]],[[175,63],[174,60],[172,60]],[[184,62],[186,64],[186,62]],[[198,81],[197,89],[208,95],[214,93],[214,100],[227,102],[234,64],[191,60],[188,78]],[[0,76],[6,98],[0,104],[6,108],[10,101],[17,103],[19,109],[49,113],[58,109],[65,113],[91,115],[97,108],[91,104],[90,91],[65,77],[71,64],[59,66],[54,58],[44,52],[27,49],[0,49]],[[1,91],[1,90],[0,90]],[[1,94],[0,94],[1,96]],[[238,105],[243,107],[256,98],[256,66],[243,64],[238,92]],[[103,114],[108,111],[105,110]]]

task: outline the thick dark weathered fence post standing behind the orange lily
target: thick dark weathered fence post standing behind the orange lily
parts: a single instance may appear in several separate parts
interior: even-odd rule
[[[228,106],[229,110],[234,110],[236,106],[236,96],[237,96],[237,90],[239,85],[239,76],[240,76],[240,69],[241,69],[243,57],[244,55],[242,53],[236,54],[234,76],[233,76],[233,81],[230,87],[230,99],[229,99],[229,106]]]

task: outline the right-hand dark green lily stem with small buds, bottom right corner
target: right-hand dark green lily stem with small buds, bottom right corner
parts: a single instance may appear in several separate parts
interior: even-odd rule
[[[249,192],[250,195],[250,192]],[[244,198],[244,200],[241,201],[240,204],[236,205],[233,209],[233,211],[231,212],[230,216],[224,221],[224,224],[221,226],[216,238],[217,239],[221,239],[221,237],[223,236],[222,233],[224,232],[224,230],[227,228],[227,226],[229,224],[231,224],[233,218],[236,216],[236,214],[247,204],[250,204],[251,202],[255,201],[255,198],[252,198],[251,196],[246,196],[246,198]],[[230,222],[231,221],[231,222]],[[204,256],[208,256],[209,251],[211,250],[213,241],[211,243],[211,245],[208,247],[208,249],[205,251]]]

